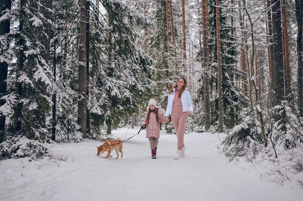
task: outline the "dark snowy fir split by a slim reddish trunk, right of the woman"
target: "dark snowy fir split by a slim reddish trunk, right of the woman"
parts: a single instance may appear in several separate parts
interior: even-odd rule
[[[216,92],[218,90],[218,66],[217,63],[217,51],[216,51],[216,18],[215,18],[215,7],[214,4],[209,6],[209,51],[210,59],[209,62],[212,63],[211,68],[211,78],[210,86],[215,88]],[[220,32],[220,43],[221,43],[221,54],[222,54],[222,94],[223,94],[223,119],[224,125],[227,128],[231,128],[239,122],[239,112],[243,104],[245,104],[245,98],[243,94],[240,93],[239,88],[233,84],[235,79],[243,78],[243,72],[236,68],[236,56],[237,43],[238,40],[236,36],[231,35],[231,30],[234,27],[228,25],[230,22],[230,11],[227,9],[221,9],[220,26],[224,29]],[[231,81],[231,82],[230,82]],[[211,88],[212,90],[212,88]],[[212,99],[211,102],[211,117],[212,124],[215,125],[218,120],[218,96]]]

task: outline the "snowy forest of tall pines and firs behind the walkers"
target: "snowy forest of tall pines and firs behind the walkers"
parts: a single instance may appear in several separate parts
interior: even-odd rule
[[[303,0],[0,6],[0,158],[140,125],[180,77],[194,101],[186,132],[227,133],[226,156],[303,146]]]

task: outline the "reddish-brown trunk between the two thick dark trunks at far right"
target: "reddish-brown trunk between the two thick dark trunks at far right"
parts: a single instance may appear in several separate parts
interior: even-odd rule
[[[282,14],[283,14],[282,16],[283,16],[284,85],[285,85],[285,95],[287,96],[290,93],[291,69],[289,63],[286,0],[282,0]]]

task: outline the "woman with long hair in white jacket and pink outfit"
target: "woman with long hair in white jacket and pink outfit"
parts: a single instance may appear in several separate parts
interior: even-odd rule
[[[186,90],[187,81],[180,78],[176,85],[168,91],[168,103],[165,113],[165,120],[168,123],[168,116],[171,114],[172,122],[176,130],[178,148],[175,159],[185,156],[184,131],[187,115],[193,112],[193,105],[189,91]]]

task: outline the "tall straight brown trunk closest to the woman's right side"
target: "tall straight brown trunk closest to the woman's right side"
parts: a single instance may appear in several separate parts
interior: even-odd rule
[[[208,16],[207,16],[207,0],[202,0],[202,34],[203,34],[203,77],[204,84],[204,127],[208,131],[211,127],[211,107],[210,107],[210,83],[209,83],[209,61],[208,61]]]

